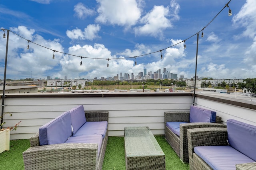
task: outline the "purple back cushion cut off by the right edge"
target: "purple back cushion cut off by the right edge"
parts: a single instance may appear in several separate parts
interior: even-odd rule
[[[229,119],[227,131],[229,145],[256,161],[256,126]]]

